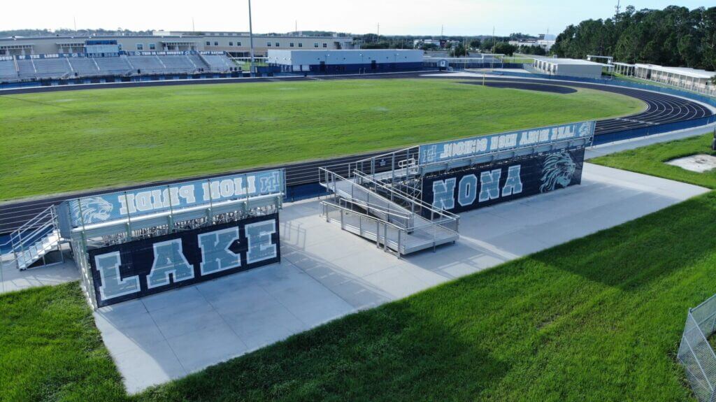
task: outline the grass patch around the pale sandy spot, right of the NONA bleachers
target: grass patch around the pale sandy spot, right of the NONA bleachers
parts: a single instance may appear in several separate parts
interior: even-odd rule
[[[716,155],[716,152],[711,150],[712,139],[713,134],[708,133],[598,157],[589,162],[716,189],[716,170],[697,173],[664,163],[695,154]]]

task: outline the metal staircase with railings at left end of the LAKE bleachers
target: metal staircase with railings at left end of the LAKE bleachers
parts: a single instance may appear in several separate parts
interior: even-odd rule
[[[9,251],[0,255],[0,269],[14,265],[19,270],[26,270],[62,263],[62,253],[58,262],[51,263],[47,259],[49,253],[60,250],[60,242],[62,236],[59,233],[57,210],[52,205],[10,234],[9,240],[1,247]],[[40,260],[42,263],[38,264]]]

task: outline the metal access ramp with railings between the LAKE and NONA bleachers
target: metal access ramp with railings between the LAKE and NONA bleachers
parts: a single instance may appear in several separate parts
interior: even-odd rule
[[[319,182],[333,197],[321,202],[322,216],[343,230],[376,242],[399,257],[455,242],[458,215],[436,210],[407,192],[358,170],[349,178],[320,168]]]

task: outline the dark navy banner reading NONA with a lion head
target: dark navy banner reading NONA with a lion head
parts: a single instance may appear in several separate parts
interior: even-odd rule
[[[487,162],[422,179],[422,201],[463,212],[581,184],[584,147]]]

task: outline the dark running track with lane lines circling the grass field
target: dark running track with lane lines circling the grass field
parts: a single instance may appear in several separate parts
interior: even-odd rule
[[[433,72],[434,73],[434,72]],[[258,78],[258,79],[213,79],[213,80],[206,80],[203,82],[200,82],[201,84],[205,83],[227,83],[227,82],[266,82],[266,81],[304,81],[304,80],[316,80],[316,79],[395,79],[395,78],[426,78],[425,72],[410,72],[410,73],[398,73],[398,74],[366,74],[366,75],[352,75],[352,76],[324,76],[324,77],[290,77],[288,79],[286,78]],[[450,77],[451,74],[445,74],[444,78],[448,79],[460,79],[463,81],[470,81],[470,80],[479,80],[482,81],[482,77],[475,77],[471,79],[470,77]],[[430,78],[435,78],[435,75],[428,76]],[[534,79],[520,79],[520,78],[511,78],[511,77],[490,77],[486,79],[485,82],[511,82],[513,84],[523,83],[523,84],[535,84]],[[123,85],[123,84],[106,84],[106,85],[97,85],[97,86],[83,86],[81,89],[95,89],[98,87],[145,87],[145,86],[155,86],[155,85],[168,85],[168,84],[184,84],[183,82],[142,82],[142,83],[125,83],[125,84],[134,84],[134,85]],[[198,84],[198,82],[186,82],[185,84]],[[554,86],[566,86],[566,87],[579,87],[579,88],[589,88],[589,89],[599,89],[606,92],[614,92],[619,94],[624,94],[630,97],[635,97],[637,99],[641,99],[643,102],[647,104],[647,109],[644,110],[644,112],[641,112],[639,114],[634,114],[633,116],[624,117],[624,118],[618,118],[618,119],[604,119],[600,120],[596,123],[596,129],[595,129],[595,135],[601,135],[601,134],[607,134],[610,132],[616,132],[621,131],[624,129],[634,129],[634,128],[640,128],[640,127],[647,127],[649,125],[654,124],[663,124],[666,122],[678,122],[683,120],[689,120],[689,119],[697,119],[699,117],[705,117],[710,116],[712,112],[707,107],[702,106],[701,104],[698,104],[697,102],[692,102],[687,99],[682,99],[679,97],[674,97],[667,94],[659,94],[656,92],[649,92],[644,91],[641,89],[631,89],[631,88],[624,88],[624,87],[611,87],[611,86],[605,86],[600,84],[587,84],[587,83],[581,83],[581,82],[559,82],[556,80],[551,80],[549,85]],[[57,91],[57,90],[69,90],[72,88],[68,87],[49,87],[49,88],[32,88],[32,89],[26,89],[22,92],[47,92],[47,91]],[[0,94],[9,94],[10,92],[0,92]],[[17,92],[12,92],[17,93]],[[385,151],[384,151],[385,152]],[[381,152],[382,153],[382,152]],[[286,169],[286,185],[288,186],[297,186],[297,185],[310,185],[312,183],[318,182],[318,167],[322,166],[330,166],[335,165],[335,167],[339,167],[337,170],[338,173],[342,173],[347,171],[347,164],[349,162],[354,162],[355,160],[363,159],[364,157],[369,157],[372,155],[379,155],[379,153],[371,153],[371,154],[365,154],[365,155],[354,155],[349,157],[338,157],[333,158],[330,160],[320,160],[320,161],[312,161],[312,162],[299,162],[289,165],[281,165],[280,167],[284,167]],[[236,172],[246,172],[246,171],[255,171],[258,168],[253,168],[251,170],[239,170]],[[236,172],[224,172],[221,175],[228,175],[233,174]],[[219,175],[205,175],[200,177],[194,177],[196,179],[205,179],[209,177],[216,177]],[[184,181],[187,179],[183,179],[181,181]],[[170,184],[172,182],[176,182],[178,180],[169,180],[165,182],[157,182],[155,184],[157,185],[165,185]],[[129,186],[129,187],[118,187],[112,190],[130,190],[137,187],[145,187],[145,185],[137,185],[137,186]],[[102,190],[102,191],[95,191],[95,192],[83,192],[82,195],[92,195],[92,194],[98,194],[103,192],[109,192],[112,190]],[[62,202],[63,200],[67,200],[68,198],[77,197],[78,194],[74,195],[64,195],[61,197],[48,197],[44,198],[42,200],[29,200],[24,202],[14,202],[14,203],[8,203],[4,205],[0,205],[0,233],[6,233],[11,232],[16,227],[19,227],[22,223],[26,222],[30,218],[37,215],[39,212],[44,210],[45,208],[49,207],[49,205],[53,204],[59,204],[59,202]],[[1,242],[2,240],[0,240]]]

